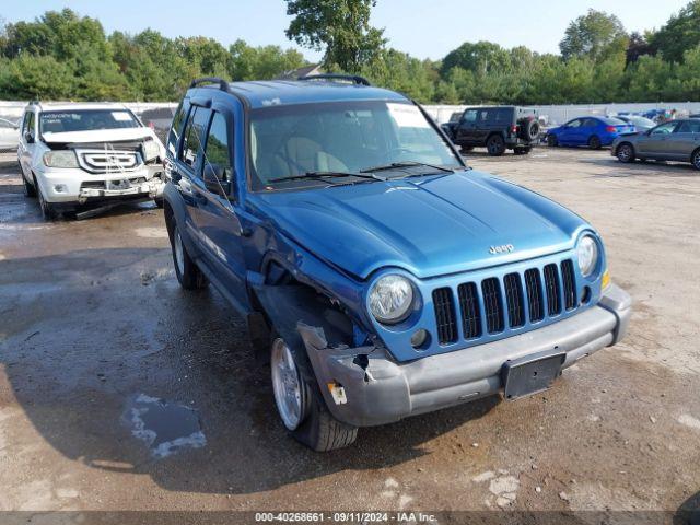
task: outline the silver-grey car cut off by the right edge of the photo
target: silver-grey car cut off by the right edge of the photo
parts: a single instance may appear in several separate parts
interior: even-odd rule
[[[670,120],[642,133],[622,135],[612,142],[610,154],[621,162],[679,161],[700,170],[700,118]]]

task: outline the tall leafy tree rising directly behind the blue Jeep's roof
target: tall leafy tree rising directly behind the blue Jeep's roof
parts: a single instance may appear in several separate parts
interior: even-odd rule
[[[376,0],[285,0],[294,16],[287,37],[299,45],[324,50],[324,66],[354,73],[375,60],[386,43],[384,30],[370,25]]]

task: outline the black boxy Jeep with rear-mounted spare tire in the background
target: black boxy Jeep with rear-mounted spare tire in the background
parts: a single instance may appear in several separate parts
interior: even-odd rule
[[[515,106],[468,107],[459,119],[443,124],[442,129],[463,151],[485,145],[494,156],[505,150],[529,153],[540,132],[535,109]]]

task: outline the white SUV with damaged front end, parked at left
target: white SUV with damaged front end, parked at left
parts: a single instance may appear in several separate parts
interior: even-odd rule
[[[44,219],[124,199],[162,203],[165,149],[122,104],[31,103],[18,160]]]

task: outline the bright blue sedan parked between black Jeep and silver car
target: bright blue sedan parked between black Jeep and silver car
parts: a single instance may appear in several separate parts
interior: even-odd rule
[[[587,145],[597,150],[610,145],[623,133],[633,133],[637,129],[618,118],[581,117],[569,120],[563,126],[547,131],[549,145]]]

